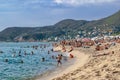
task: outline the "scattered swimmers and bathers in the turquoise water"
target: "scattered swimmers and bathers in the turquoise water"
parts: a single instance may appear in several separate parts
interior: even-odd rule
[[[40,44],[39,46],[38,45],[33,45],[33,46],[27,46],[27,47],[21,47],[19,49],[11,49],[9,51],[9,55],[11,55],[11,58],[14,59],[14,62],[17,62],[17,63],[25,63],[24,59],[26,56],[34,56],[34,55],[37,55],[39,53],[44,53],[46,54],[47,56],[49,56],[49,59],[53,59],[56,61],[56,64],[57,66],[61,65],[62,64],[62,60],[63,60],[63,55],[62,54],[59,54],[59,53],[56,53],[55,55],[52,54],[54,53],[53,52],[53,49],[48,49],[50,47],[50,44]],[[30,50],[28,50],[30,49]],[[38,53],[36,53],[36,51]],[[1,53],[4,54],[4,52],[2,51]],[[47,56],[42,56],[39,58],[40,62],[46,62],[48,60],[48,57]],[[19,61],[15,61],[16,59],[15,58],[20,58]],[[5,57],[4,58],[4,62],[11,62],[9,57]]]

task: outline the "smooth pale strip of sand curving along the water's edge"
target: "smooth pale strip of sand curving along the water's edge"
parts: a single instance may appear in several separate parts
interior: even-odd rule
[[[54,50],[62,52],[60,46],[57,48],[54,48]],[[68,74],[68,73],[78,69],[79,67],[82,67],[85,63],[88,62],[89,55],[85,54],[82,51],[73,50],[69,54],[73,54],[74,58],[68,59],[68,61],[65,61],[64,64],[62,64],[55,70],[50,70],[46,73],[43,73],[42,76],[41,75],[37,76],[34,80],[53,80],[57,77]]]

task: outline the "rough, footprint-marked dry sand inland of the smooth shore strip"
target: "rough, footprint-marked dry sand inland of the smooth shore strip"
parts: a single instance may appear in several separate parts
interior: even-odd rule
[[[91,54],[89,55],[89,59],[87,59],[87,63],[82,67],[79,66],[79,68],[72,72],[52,80],[120,80],[120,44],[97,52],[94,52],[94,46],[89,52],[87,52],[88,50],[83,51]],[[90,51],[93,51],[93,53]],[[94,56],[94,54],[103,53],[109,54]]]

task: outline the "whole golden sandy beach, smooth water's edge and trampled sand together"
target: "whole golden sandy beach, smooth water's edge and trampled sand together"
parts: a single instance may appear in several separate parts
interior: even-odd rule
[[[66,51],[69,47],[66,46]],[[70,52],[75,60],[72,65],[63,65],[36,80],[120,80],[120,44],[100,51],[95,47],[74,48]],[[55,50],[61,51],[61,46]]]

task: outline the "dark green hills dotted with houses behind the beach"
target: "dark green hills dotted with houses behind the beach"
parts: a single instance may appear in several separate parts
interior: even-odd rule
[[[120,31],[120,11],[100,20],[62,20],[44,27],[9,27],[0,32],[0,41],[37,41],[74,38],[76,35],[93,37]]]

